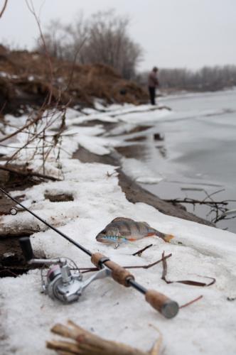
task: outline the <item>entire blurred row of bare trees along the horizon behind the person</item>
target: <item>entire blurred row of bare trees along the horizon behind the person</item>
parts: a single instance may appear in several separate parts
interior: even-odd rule
[[[146,85],[148,72],[137,72],[143,49],[129,35],[129,18],[114,10],[97,12],[86,19],[82,14],[65,25],[51,21],[43,33],[48,53],[61,60],[79,64],[102,63],[113,67],[127,80]],[[44,53],[42,38],[36,50]],[[154,63],[158,64],[158,63]],[[150,68],[151,70],[151,68]],[[159,69],[160,88],[166,90],[213,91],[236,86],[236,65]]]

